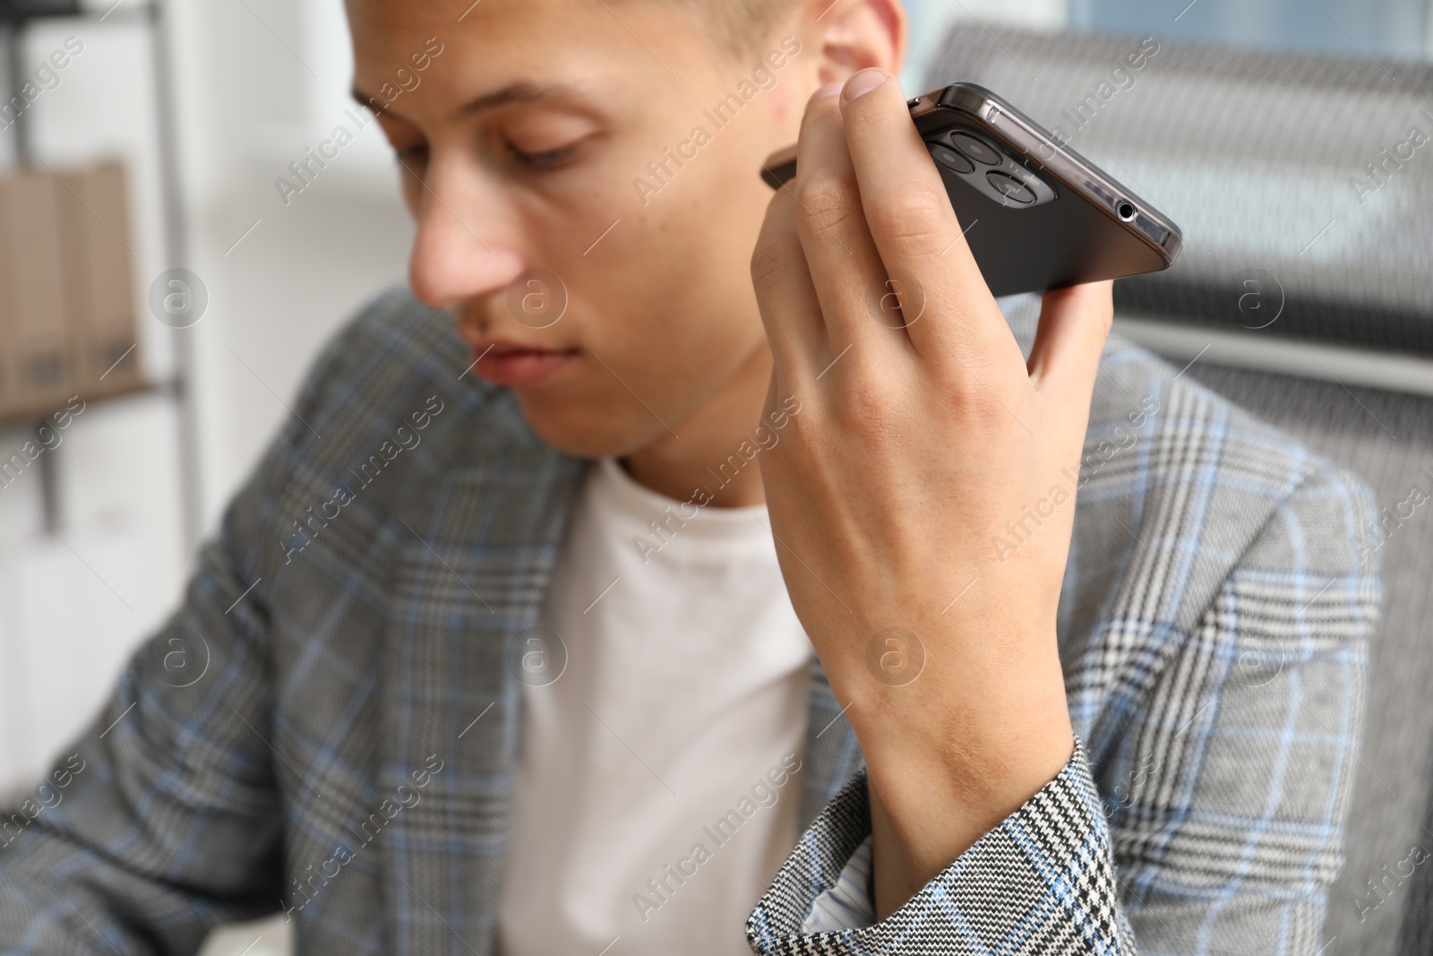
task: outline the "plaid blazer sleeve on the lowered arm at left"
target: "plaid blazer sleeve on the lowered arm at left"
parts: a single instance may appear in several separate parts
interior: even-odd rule
[[[297,403],[308,421],[335,351]],[[292,419],[203,546],[179,609],[39,790],[0,811],[0,953],[193,953],[214,926],[279,907],[282,791],[302,784],[268,744],[265,599],[282,565],[274,489],[307,436]]]

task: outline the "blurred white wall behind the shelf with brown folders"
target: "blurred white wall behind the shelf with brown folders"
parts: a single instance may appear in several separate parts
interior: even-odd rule
[[[146,305],[149,282],[172,264],[149,33],[136,0],[105,21],[32,27],[32,60],[67,36],[85,52],[59,89],[36,102],[30,129],[39,159],[54,166],[126,159],[142,361],[165,383],[175,371],[173,337],[192,337],[202,505],[212,529],[288,414],[284,401],[317,348],[374,291],[403,278],[411,226],[377,126],[288,208],[274,189],[274,178],[348,106],[340,0],[178,0],[172,23],[188,265],[209,290],[209,310],[193,328],[175,333]],[[11,146],[0,142],[0,158]],[[0,430],[0,451],[26,437],[23,429]],[[0,492],[0,794],[27,787],[92,720],[129,652],[176,605],[189,563],[171,393],[90,404],[46,456],[57,479],[57,533],[40,520],[37,467]]]

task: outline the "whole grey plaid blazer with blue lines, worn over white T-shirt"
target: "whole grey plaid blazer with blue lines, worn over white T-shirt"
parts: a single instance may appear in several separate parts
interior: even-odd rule
[[[401,291],[324,353],[63,790],[0,820],[0,947],[189,953],[284,907],[301,953],[493,952],[517,654],[588,464],[466,355]],[[817,737],[840,707],[815,664],[811,826],[757,952],[1318,947],[1379,596],[1369,494],[1119,341],[1086,451],[1070,764],[890,919],[801,936],[868,833],[854,735]]]

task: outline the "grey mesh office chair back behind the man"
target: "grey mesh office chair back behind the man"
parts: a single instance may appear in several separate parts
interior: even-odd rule
[[[1184,254],[1116,287],[1116,334],[1198,358],[1188,374],[1351,467],[1387,509],[1323,952],[1430,953],[1433,503],[1413,502],[1433,493],[1433,66],[1155,37],[1131,70],[1141,40],[959,26],[924,89],[993,89],[1174,216]]]

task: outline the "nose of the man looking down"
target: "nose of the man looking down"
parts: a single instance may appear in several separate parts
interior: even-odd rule
[[[504,236],[502,195],[471,171],[430,166],[418,188],[408,285],[430,308],[500,292],[523,271]]]

